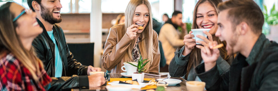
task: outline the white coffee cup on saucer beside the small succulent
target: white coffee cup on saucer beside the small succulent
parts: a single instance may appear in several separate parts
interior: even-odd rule
[[[138,65],[138,62],[130,62],[131,64],[134,64],[134,65]],[[125,68],[125,71],[127,73],[127,75],[131,75],[132,73],[136,72],[137,70],[137,67],[131,65],[131,64],[128,64],[127,62],[124,62],[123,63],[124,66],[121,67],[121,69],[123,70],[123,68]]]

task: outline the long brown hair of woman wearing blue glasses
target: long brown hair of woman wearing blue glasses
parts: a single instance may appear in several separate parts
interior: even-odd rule
[[[15,16],[9,9],[12,3],[14,2],[7,2],[0,7],[0,54],[5,52],[12,53],[29,70],[37,83],[39,82],[37,74],[41,74],[39,66],[43,69],[43,63],[35,56],[33,48],[28,51],[23,47],[15,30],[18,24],[13,22]]]

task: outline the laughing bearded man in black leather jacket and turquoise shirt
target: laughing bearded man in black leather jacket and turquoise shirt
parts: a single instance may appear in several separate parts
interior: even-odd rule
[[[73,59],[64,32],[56,24],[62,21],[60,0],[28,0],[28,5],[36,13],[39,26],[43,28],[43,33],[34,39],[32,45],[52,79],[45,89],[70,90],[78,87],[100,87],[105,84],[105,78],[101,74],[88,76],[89,72],[101,71],[100,68],[84,66]]]

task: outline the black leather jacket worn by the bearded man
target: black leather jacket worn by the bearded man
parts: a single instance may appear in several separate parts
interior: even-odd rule
[[[34,39],[32,45],[38,58],[43,62],[44,69],[52,79],[51,84],[45,86],[45,89],[54,91],[89,87],[87,76],[88,66],[81,65],[80,62],[73,59],[73,54],[69,51],[64,32],[58,24],[54,24],[52,29],[62,59],[63,73],[62,77],[55,77],[55,44],[49,37],[41,21],[39,19],[37,21],[43,28],[43,33]]]

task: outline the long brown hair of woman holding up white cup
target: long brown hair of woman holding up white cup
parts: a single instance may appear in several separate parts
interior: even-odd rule
[[[194,8],[193,11],[193,23],[192,23],[192,29],[198,29],[200,27],[197,26],[196,23],[196,14],[197,14],[197,8],[200,4],[205,3],[205,2],[209,2],[216,10],[217,14],[218,14],[218,10],[217,10],[217,5],[220,2],[223,2],[222,0],[199,0]],[[226,42],[221,42],[219,40],[218,37],[216,37],[215,35],[212,35],[212,38],[214,41],[217,41],[218,44],[224,44],[223,47],[219,48],[220,50],[220,55],[224,55],[222,56],[222,58],[224,60],[229,60],[231,56],[227,55],[227,50],[225,49],[226,46]],[[191,67],[193,66],[195,68],[195,66],[197,66],[198,64],[200,64],[202,61],[202,56],[201,56],[201,49],[198,49],[197,47],[194,47],[194,49],[191,51],[190,57],[189,57],[189,61],[188,61],[188,66],[187,66],[187,72],[186,75],[188,77],[188,74],[190,72]]]

